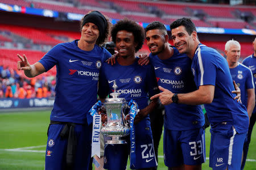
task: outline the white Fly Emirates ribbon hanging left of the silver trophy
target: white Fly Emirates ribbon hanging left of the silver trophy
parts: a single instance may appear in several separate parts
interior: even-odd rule
[[[92,131],[92,155],[97,155],[98,158],[100,158],[100,148],[101,148],[101,137],[100,137],[100,131],[101,131],[101,114],[98,114],[98,111],[100,111],[102,107],[102,103],[99,100],[96,104],[93,105],[93,107],[90,109],[90,115],[93,116],[93,131]]]

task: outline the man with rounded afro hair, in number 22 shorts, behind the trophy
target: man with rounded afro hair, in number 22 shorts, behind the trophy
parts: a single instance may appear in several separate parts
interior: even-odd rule
[[[134,119],[135,139],[126,138],[128,144],[105,145],[104,168],[126,169],[130,154],[131,169],[147,169],[156,167],[156,157],[150,127],[150,113],[158,100],[148,104],[148,94],[158,92],[154,70],[150,65],[141,66],[135,53],[142,48],[144,29],[141,25],[129,19],[119,20],[112,29],[112,39],[115,42],[118,57],[114,65],[103,64],[100,74],[98,95],[104,101],[113,92],[113,83],[118,86],[119,97],[126,101],[133,99],[138,104],[139,112]]]

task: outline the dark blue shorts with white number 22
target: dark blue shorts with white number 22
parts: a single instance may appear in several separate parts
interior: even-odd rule
[[[104,168],[109,170],[126,169],[129,154],[129,137],[127,137],[127,144],[105,145]],[[131,165],[131,169],[150,168],[158,165],[155,157],[151,127],[147,127],[143,120],[135,126],[135,154],[136,164]]]

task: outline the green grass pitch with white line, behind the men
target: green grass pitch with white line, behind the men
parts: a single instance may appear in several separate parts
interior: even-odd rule
[[[47,128],[51,111],[0,113],[0,169],[44,169]],[[254,128],[246,170],[256,167],[256,128]],[[205,133],[209,158],[210,133]],[[159,146],[158,169],[167,169],[163,161],[163,141]],[[129,165],[127,165],[129,169]],[[209,168],[209,159],[202,165]]]

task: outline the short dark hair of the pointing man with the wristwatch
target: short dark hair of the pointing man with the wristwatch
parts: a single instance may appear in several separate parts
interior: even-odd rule
[[[193,31],[196,32],[196,25],[192,22],[190,18],[180,18],[175,20],[170,24],[170,29],[174,29],[180,26],[184,26],[186,31],[188,32],[188,35],[191,35]]]

